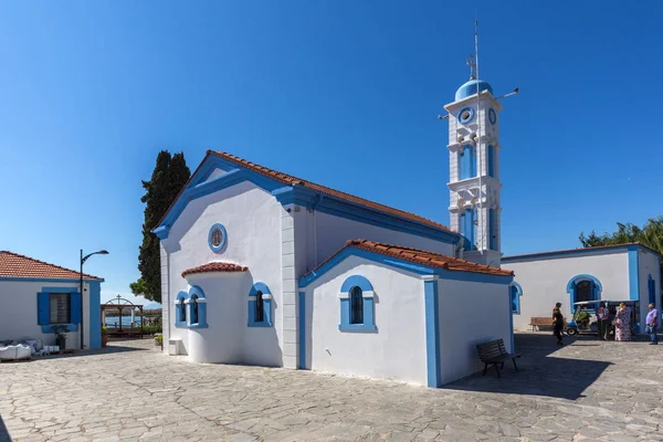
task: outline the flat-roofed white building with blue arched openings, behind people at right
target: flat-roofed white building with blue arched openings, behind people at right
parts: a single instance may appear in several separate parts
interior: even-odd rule
[[[514,327],[525,330],[532,317],[551,316],[555,303],[570,318],[581,301],[638,301],[644,320],[648,304],[661,311],[661,255],[640,244],[533,253],[502,259],[516,276],[512,284]],[[642,323],[635,330],[644,333]]]

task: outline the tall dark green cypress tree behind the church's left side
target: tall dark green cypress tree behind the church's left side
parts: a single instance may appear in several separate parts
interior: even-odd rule
[[[161,150],[157,156],[157,165],[151,179],[143,181],[145,194],[140,201],[145,203],[145,219],[143,244],[138,254],[140,278],[129,284],[129,288],[135,295],[161,302],[159,239],[151,233],[151,230],[157,227],[190,176],[191,171],[187,167],[183,152],[170,156],[168,150]]]

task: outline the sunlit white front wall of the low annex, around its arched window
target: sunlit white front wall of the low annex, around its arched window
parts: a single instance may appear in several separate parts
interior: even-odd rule
[[[344,281],[362,275],[375,291],[377,332],[341,332]],[[306,287],[306,367],[427,385],[423,281],[348,257]]]

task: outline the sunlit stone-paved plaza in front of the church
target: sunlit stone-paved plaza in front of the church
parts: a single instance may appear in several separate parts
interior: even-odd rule
[[[150,344],[0,364],[0,441],[663,441],[663,345],[519,334],[520,371],[435,390]]]

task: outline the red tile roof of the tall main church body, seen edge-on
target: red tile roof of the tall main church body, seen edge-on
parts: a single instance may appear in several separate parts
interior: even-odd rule
[[[217,156],[219,158],[222,158],[222,159],[224,159],[224,160],[227,160],[229,162],[232,162],[234,165],[241,166],[243,168],[246,168],[249,170],[252,170],[252,171],[254,171],[256,173],[260,173],[262,176],[265,176],[267,178],[271,178],[271,179],[273,179],[275,181],[282,182],[282,183],[287,185],[287,186],[297,185],[297,186],[306,187],[306,188],[315,190],[316,192],[325,193],[327,196],[335,197],[335,198],[338,198],[338,199],[341,199],[341,200],[346,200],[348,202],[352,202],[352,203],[356,203],[356,204],[361,204],[364,207],[367,207],[367,208],[370,208],[370,209],[373,209],[373,210],[379,210],[379,211],[388,213],[388,214],[397,215],[397,217],[400,217],[400,218],[404,218],[404,219],[408,219],[408,220],[411,220],[411,221],[420,222],[422,224],[427,224],[427,225],[430,225],[430,227],[433,227],[433,228],[436,228],[436,229],[442,229],[442,230],[446,230],[446,231],[451,232],[451,230],[446,225],[440,224],[439,222],[429,220],[429,219],[420,217],[418,214],[406,212],[404,210],[394,209],[392,207],[380,204],[379,202],[370,201],[370,200],[367,200],[367,199],[364,199],[364,198],[355,197],[354,194],[341,192],[341,191],[338,191],[336,189],[332,189],[329,187],[316,185],[315,182],[306,181],[306,180],[303,180],[301,178],[294,177],[292,175],[283,173],[283,172],[280,172],[277,170],[269,169],[269,168],[266,168],[264,166],[256,165],[254,162],[248,161],[248,160],[242,159],[240,157],[235,157],[234,155],[230,155],[230,154],[222,152],[222,151],[217,151],[217,150],[208,150],[207,151],[207,156],[210,156],[210,155],[214,155],[214,156]],[[206,156],[206,158],[207,158],[207,156]],[[204,159],[203,159],[203,161],[204,161]],[[202,165],[202,162],[201,162],[201,165]],[[199,168],[200,168],[200,166],[199,166]],[[198,171],[198,169],[191,175],[191,178],[189,179],[189,181],[193,178],[193,176],[196,175],[197,171]],[[160,225],[161,222],[164,222],[164,219],[166,218],[166,214],[168,214],[168,212],[170,211],[170,209],[172,208],[172,206],[175,204],[175,202],[179,199],[180,194],[189,186],[189,181],[187,181],[187,183],[185,185],[185,187],[180,190],[180,193],[172,201],[172,204],[170,204],[170,208],[168,208],[168,210],[166,211],[166,213],[164,214],[164,217],[159,221],[159,224],[157,224],[157,225]]]

